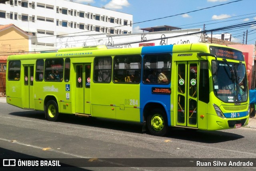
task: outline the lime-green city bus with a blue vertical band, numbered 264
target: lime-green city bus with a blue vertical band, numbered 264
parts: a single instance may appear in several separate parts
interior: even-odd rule
[[[11,55],[6,101],[45,111],[49,121],[62,113],[132,121],[158,136],[169,127],[212,131],[249,121],[242,52],[205,43]]]

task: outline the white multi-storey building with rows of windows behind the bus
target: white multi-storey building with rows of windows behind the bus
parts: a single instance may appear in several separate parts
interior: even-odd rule
[[[69,0],[10,0],[0,3],[0,25],[33,35],[29,51],[56,49],[57,37],[131,34],[132,15]]]

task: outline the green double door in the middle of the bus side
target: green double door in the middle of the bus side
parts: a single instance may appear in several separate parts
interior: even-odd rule
[[[76,73],[76,113],[91,114],[91,64],[74,64]]]

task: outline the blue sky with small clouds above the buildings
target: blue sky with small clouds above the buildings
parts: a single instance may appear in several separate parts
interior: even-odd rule
[[[140,28],[152,26],[168,25],[182,29],[203,29],[205,24],[205,29],[210,30],[246,22],[256,22],[256,0],[235,1],[237,0],[73,0],[73,2],[82,4],[90,3],[91,6],[100,8],[104,6],[106,9],[132,14],[133,23],[142,22],[133,25],[134,33],[142,32]],[[232,3],[226,4],[229,2]],[[225,5],[216,6],[220,4]],[[200,10],[203,8],[208,9]],[[194,10],[199,11],[191,12]],[[163,17],[167,18],[158,19]],[[143,22],[147,20],[153,21]],[[245,44],[247,30],[247,44],[255,44],[256,24],[214,32],[213,34],[216,37],[227,32],[232,34],[232,42],[243,43],[244,41]],[[210,36],[210,33],[208,35]]]

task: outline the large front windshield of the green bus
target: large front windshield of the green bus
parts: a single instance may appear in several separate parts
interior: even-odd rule
[[[213,88],[216,97],[226,103],[246,102],[248,99],[247,77],[245,65],[217,62],[217,72],[213,75]]]

